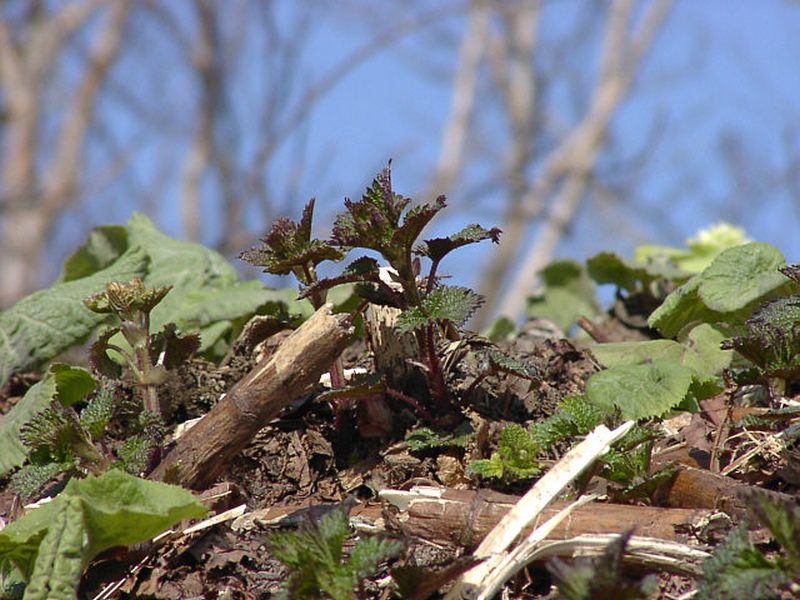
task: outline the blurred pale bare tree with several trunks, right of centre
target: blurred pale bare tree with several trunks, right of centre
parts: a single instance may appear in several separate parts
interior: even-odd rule
[[[502,146],[505,165],[496,177],[506,197],[499,224],[503,238],[481,277],[480,291],[486,303],[473,320],[476,329],[487,326],[491,316],[518,317],[522,312],[537,272],[552,259],[591,192],[598,158],[608,151],[613,117],[630,93],[672,4],[673,0],[586,3],[588,18],[605,20],[598,74],[593,87],[584,91],[588,102],[583,114],[566,128],[562,126],[553,139],[542,128],[559,111],[543,101],[540,88],[578,77],[552,66],[547,70],[536,60],[545,43],[538,35],[544,3],[483,1],[470,5],[450,121],[433,181],[440,186],[439,193],[447,191],[464,168],[466,148],[475,140],[474,132],[467,130],[476,102],[475,73],[483,61],[509,133]],[[583,42],[582,33],[577,22],[572,26],[574,38],[565,40],[577,46]],[[561,51],[568,54],[571,49]]]

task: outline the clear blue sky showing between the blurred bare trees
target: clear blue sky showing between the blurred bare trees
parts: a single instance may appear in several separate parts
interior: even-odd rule
[[[449,6],[433,1],[420,4],[427,6],[426,10]],[[276,6],[283,17],[282,25],[289,28],[298,15],[297,7],[309,4],[276,0]],[[347,10],[331,6],[318,2],[314,12],[306,15],[305,46],[295,73],[300,84],[318,80],[375,30],[392,27],[392,23],[380,20],[383,15],[378,10],[373,15],[375,25],[370,28],[365,19],[353,19]],[[549,2],[544,35],[561,35],[565,31],[564,15],[581,6],[581,0]],[[389,12],[405,17],[400,10]],[[316,196],[320,224],[330,224],[341,199],[358,197],[390,157],[394,159],[397,190],[425,200],[418,194],[429,181],[438,156],[457,52],[457,43],[438,44],[437,40],[452,37],[457,41],[463,26],[463,15],[453,11],[452,16],[422,27],[374,55],[321,99],[300,135],[283,147],[269,173],[279,203],[288,209],[289,216],[296,217],[307,199]],[[657,143],[648,153],[635,197],[611,210],[587,204],[559,247],[558,256],[582,260],[609,249],[630,255],[640,243],[680,245],[699,229],[726,219],[743,225],[752,238],[775,244],[788,260],[800,260],[800,240],[795,235],[800,225],[800,199],[767,182],[774,178],[774,171],[785,167],[787,147],[800,154],[800,144],[795,141],[800,132],[796,100],[800,98],[798,31],[797,2],[677,0],[641,72],[635,94],[614,121],[613,135],[631,155],[644,147],[649,132],[658,127]],[[168,55],[169,49],[159,45],[164,42],[159,42],[157,33],[137,43],[153,55]],[[576,55],[574,60],[592,64],[591,56]],[[237,74],[234,100],[240,116],[246,115],[248,107],[252,108],[267,91],[265,77],[273,68],[268,58],[252,49],[242,64],[252,70]],[[190,97],[192,82],[171,69],[166,60],[149,68],[155,70],[149,75],[141,73],[139,65],[129,61],[120,65],[118,76],[127,82],[141,80],[136,87],[170,99],[176,107]],[[114,114],[113,107],[107,110]],[[504,123],[490,108],[479,110],[484,134],[502,139]],[[176,111],[170,115],[174,122],[168,126],[183,131],[190,125],[185,117]],[[135,120],[110,119],[121,139],[136,138]],[[726,132],[738,140],[748,157],[747,171],[753,172],[754,189],[737,192],[733,187],[731,173],[720,159],[720,138]],[[242,136],[247,146],[257,141],[258,129],[243,128],[234,135]],[[153,143],[148,144],[132,164],[124,186],[96,198],[96,210],[83,215],[83,225],[124,221],[130,212],[126,196],[142,194],[153,180],[163,178],[157,195],[150,198],[151,216],[168,233],[181,235],[178,178],[162,164]],[[307,168],[298,171],[295,166],[302,151]],[[478,165],[466,177],[477,179],[482,168],[488,166]],[[295,179],[297,172],[302,173],[300,179]],[[207,220],[214,222],[213,188],[208,192]],[[458,193],[451,193],[452,205],[458,204]],[[747,199],[745,209],[734,206],[732,198],[737,193]],[[501,196],[486,194],[474,210],[450,209],[450,217],[435,233],[475,221],[486,226],[498,224],[496,211],[502,202]],[[94,219],[97,223],[86,223]],[[254,238],[268,227],[262,214],[250,215],[250,223]],[[65,221],[60,235],[69,237],[69,231],[74,233],[74,221]],[[324,234],[324,227],[318,233]],[[204,241],[213,243],[213,229]],[[444,267],[463,283],[474,285],[479,273],[475,265],[487,250],[481,247],[472,254],[465,252],[461,260]]]

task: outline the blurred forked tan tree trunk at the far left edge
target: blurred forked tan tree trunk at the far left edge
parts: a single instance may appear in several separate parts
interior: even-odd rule
[[[53,223],[79,194],[81,157],[98,92],[120,50],[129,0],[69,3],[48,12],[30,3],[18,22],[0,19],[0,87],[6,98],[2,134],[0,307],[41,282],[44,247]],[[98,27],[71,102],[54,137],[48,87],[71,38],[96,14]],[[49,123],[48,123],[49,124]]]

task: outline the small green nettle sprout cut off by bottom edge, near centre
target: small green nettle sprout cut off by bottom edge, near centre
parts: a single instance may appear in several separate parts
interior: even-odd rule
[[[403,550],[399,542],[370,537],[359,540],[345,558],[344,544],[349,537],[350,523],[343,509],[333,510],[319,521],[304,522],[297,531],[270,534],[266,539],[269,551],[289,569],[286,597],[355,598],[356,585]]]

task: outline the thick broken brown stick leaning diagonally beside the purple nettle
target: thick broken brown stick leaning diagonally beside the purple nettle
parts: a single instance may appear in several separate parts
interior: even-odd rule
[[[194,427],[151,477],[202,489],[214,482],[253,436],[294,399],[310,391],[352,334],[348,315],[327,304],[260,362]]]

